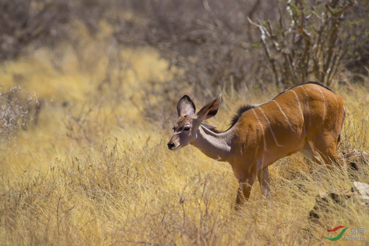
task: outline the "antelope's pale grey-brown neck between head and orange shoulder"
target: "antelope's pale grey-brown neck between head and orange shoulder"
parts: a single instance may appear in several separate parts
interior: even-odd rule
[[[191,145],[200,149],[208,157],[225,162],[231,152],[232,131],[215,133],[200,125],[196,139]]]

